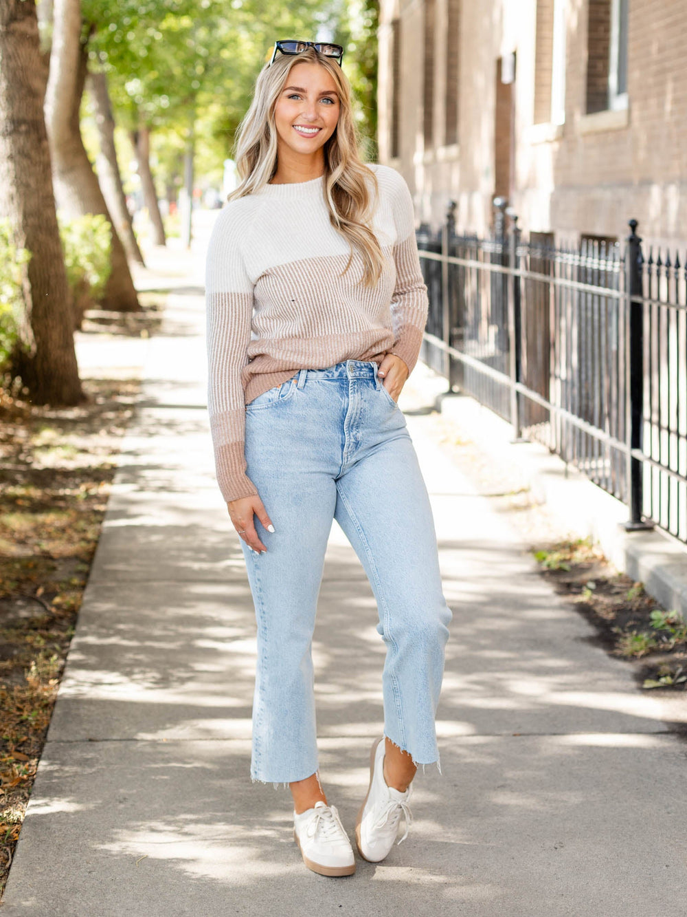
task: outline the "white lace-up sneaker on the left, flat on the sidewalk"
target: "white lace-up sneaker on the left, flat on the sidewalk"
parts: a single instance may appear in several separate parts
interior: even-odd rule
[[[336,806],[315,802],[314,808],[293,813],[293,836],[305,865],[321,876],[350,876],[355,872],[353,848]]]

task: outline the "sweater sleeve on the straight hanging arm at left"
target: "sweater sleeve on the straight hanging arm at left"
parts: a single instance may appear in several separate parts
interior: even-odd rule
[[[257,493],[245,473],[245,392],[241,370],[253,315],[253,284],[245,270],[242,208],[231,202],[217,217],[205,267],[208,414],[217,483],[224,500]]]

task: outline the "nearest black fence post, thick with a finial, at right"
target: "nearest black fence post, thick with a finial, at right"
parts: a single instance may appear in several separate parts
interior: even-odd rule
[[[653,524],[642,520],[643,468],[638,458],[630,455],[630,449],[641,449],[644,423],[644,315],[642,297],[642,255],[641,238],[637,235],[637,220],[630,220],[630,235],[627,237],[626,294],[627,294],[627,347],[626,347],[626,476],[629,520],[627,531],[652,528]]]

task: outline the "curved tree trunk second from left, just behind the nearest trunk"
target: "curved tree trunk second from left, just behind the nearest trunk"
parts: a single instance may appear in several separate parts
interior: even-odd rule
[[[55,196],[68,216],[104,214],[112,226],[112,272],[102,303],[110,309],[139,309],[138,297],[121,239],[83,146],[79,124],[87,54],[81,41],[79,0],[55,0],[50,72],[45,98]]]

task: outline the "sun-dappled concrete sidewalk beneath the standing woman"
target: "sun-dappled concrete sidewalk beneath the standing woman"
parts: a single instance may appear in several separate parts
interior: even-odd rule
[[[443,773],[418,775],[385,863],[303,866],[288,790],[249,777],[254,612],[213,477],[201,276],[147,345],[0,913],[684,917],[687,746],[666,725],[684,700],[641,694],[594,646],[431,439],[413,377],[400,404],[454,613]],[[375,624],[334,524],[313,655],[322,779],[351,836],[382,723]]]

